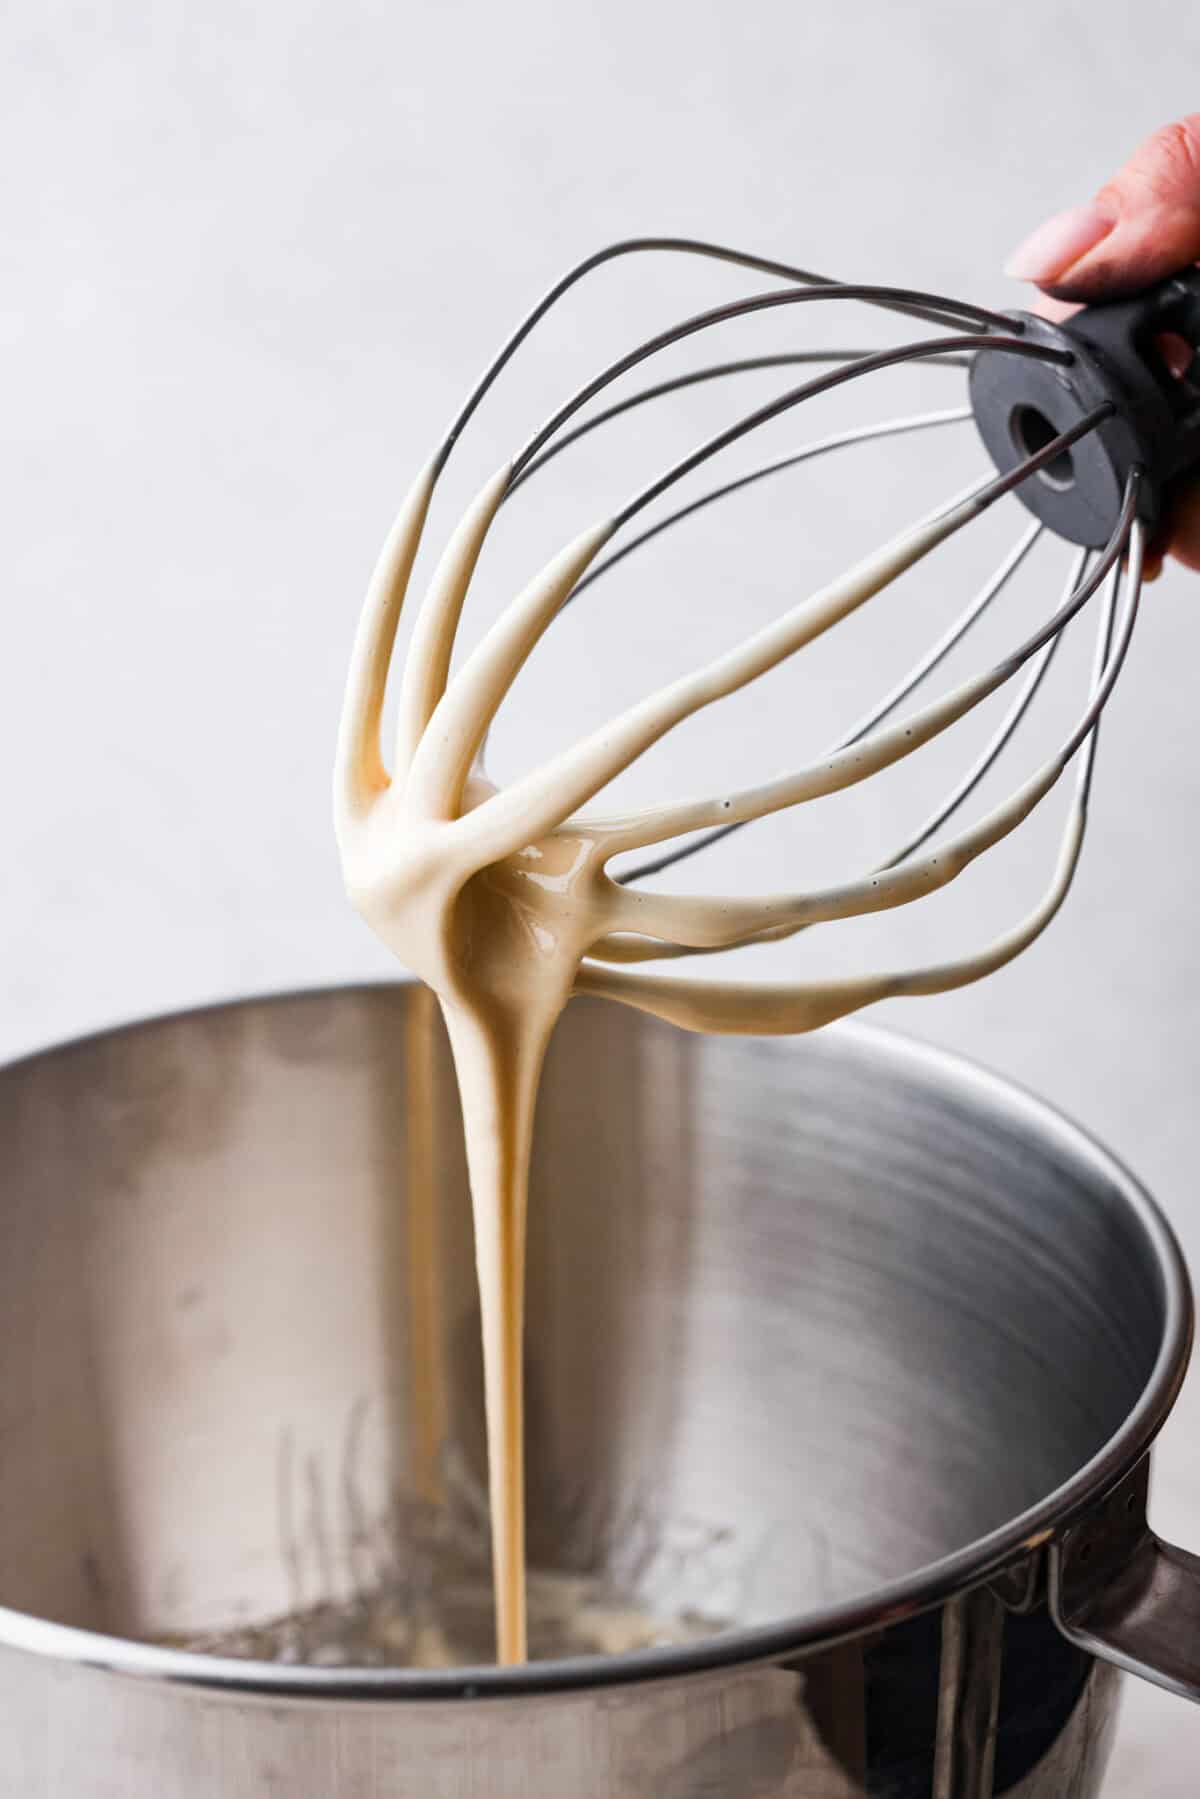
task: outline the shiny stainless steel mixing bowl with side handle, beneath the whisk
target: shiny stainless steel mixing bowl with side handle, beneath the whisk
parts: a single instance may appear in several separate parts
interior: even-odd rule
[[[419,1004],[252,1000],[0,1074],[0,1795],[1096,1794],[1112,1664],[1200,1684],[1198,1563],[1144,1522],[1178,1250],[1045,1106],[864,1029],[579,1004],[547,1074],[531,1545],[729,1630],[441,1673],[149,1641],[369,1589],[482,1473]]]

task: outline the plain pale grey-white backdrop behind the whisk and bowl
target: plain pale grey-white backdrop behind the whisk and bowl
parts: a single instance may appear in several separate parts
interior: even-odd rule
[[[1155,124],[1200,106],[1198,52],[1200,18],[1166,0],[25,0],[0,106],[0,1049],[385,971],[342,900],[327,819],[358,597],[405,482],[561,268],[631,232],[684,232],[842,279],[1016,304],[999,273],[1011,243],[1087,198]],[[599,277],[480,416],[435,534],[572,378],[639,331],[759,286],[648,259]],[[887,320],[820,308],[770,333],[725,335],[712,354],[896,336]],[[698,360],[689,347],[669,367]],[[498,534],[468,631],[567,533],[779,380],[669,403],[657,425],[637,416],[547,473]],[[959,387],[927,372],[822,401],[721,473],[835,419],[950,405]],[[963,430],[770,484],[630,561],[534,658],[498,732],[500,772],[954,493],[981,466]],[[745,779],[808,759],[1016,529],[1007,502],[972,543],[885,595],[882,615],[856,621],[840,651],[817,651],[664,747],[639,772],[642,790],[687,793],[703,774]],[[995,642],[1011,639],[1016,608],[1052,601],[1063,554],[1043,556]],[[1148,595],[1101,750],[1090,847],[1056,928],[984,988],[883,1009],[1097,1128],[1159,1195],[1193,1263],[1198,606],[1200,583],[1178,574]],[[1067,671],[1060,689],[1069,707]],[[900,781],[860,795],[842,822],[831,810],[829,822],[759,826],[680,882],[766,889],[826,864],[847,873],[963,766],[966,729],[948,761],[934,752],[927,790]],[[1052,824],[997,851],[954,905],[761,966],[864,966],[977,943],[1033,901]],[[1155,1500],[1160,1529],[1191,1547],[1198,1425],[1193,1382]],[[1132,1687],[1114,1799],[1191,1795],[1198,1752],[1196,1713]]]

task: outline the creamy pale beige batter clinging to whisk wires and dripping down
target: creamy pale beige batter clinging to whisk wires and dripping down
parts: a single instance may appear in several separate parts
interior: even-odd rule
[[[847,788],[930,741],[1016,666],[1013,658],[810,768],[736,793],[626,817],[587,806],[682,720],[745,687],[847,617],[988,504],[984,488],[903,531],[761,630],[651,694],[509,788],[484,743],[509,685],[615,525],[592,525],[500,615],[450,676],[462,604],[509,484],[502,468],[470,506],[416,619],[398,696],[390,772],[383,696],[396,626],[441,459],[392,525],[354,640],[335,811],[345,887],[383,943],[437,995],[462,1096],[482,1311],[497,1653],[525,1657],[522,1329],[525,1204],[538,1081],[572,993],[599,993],[689,1031],[811,1031],[874,1000],[943,993],[1020,953],[1058,910],[1079,853],[1067,833],[1049,892],[984,952],[930,968],[808,984],[705,982],[631,964],[783,937],[806,925],[903,905],[954,880],[1058,781],[1067,752],[972,829],[901,867],[811,894],[682,898],[619,885],[613,856],[714,824],[759,819]],[[585,678],[585,676],[581,676]]]

